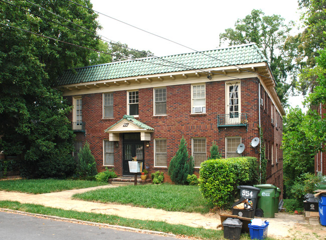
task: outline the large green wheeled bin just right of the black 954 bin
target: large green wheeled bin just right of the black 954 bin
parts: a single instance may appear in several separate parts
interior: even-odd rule
[[[277,187],[272,184],[260,184],[254,186],[260,189],[257,209],[260,208],[263,210],[264,217],[275,217],[275,196]]]

